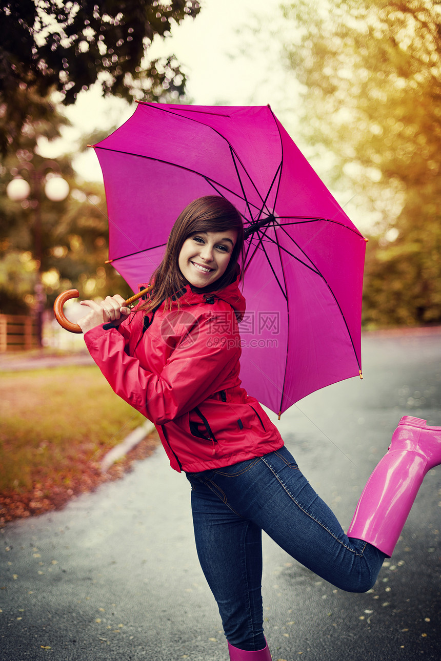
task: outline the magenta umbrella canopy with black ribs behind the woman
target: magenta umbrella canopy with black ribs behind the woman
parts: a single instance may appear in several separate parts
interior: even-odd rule
[[[195,198],[243,215],[243,386],[274,412],[361,374],[366,242],[269,106],[140,103],[95,145],[109,257],[136,290]]]

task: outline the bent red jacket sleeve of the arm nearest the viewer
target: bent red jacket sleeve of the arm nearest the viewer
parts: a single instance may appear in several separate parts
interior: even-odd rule
[[[85,333],[87,348],[114,392],[154,424],[165,424],[223,389],[223,381],[240,357],[237,325],[216,331],[204,313],[190,332],[179,338],[161,373],[140,366],[129,356],[126,339],[101,326]]]

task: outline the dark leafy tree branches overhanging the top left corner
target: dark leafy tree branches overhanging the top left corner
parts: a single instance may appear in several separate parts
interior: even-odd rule
[[[17,147],[27,123],[50,118],[55,99],[71,104],[97,81],[104,94],[128,100],[182,96],[174,56],[143,58],[155,36],[199,11],[196,0],[2,2],[0,151]]]

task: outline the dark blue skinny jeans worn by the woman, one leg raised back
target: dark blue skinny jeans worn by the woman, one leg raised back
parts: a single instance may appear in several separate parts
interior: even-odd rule
[[[341,590],[366,592],[376,582],[385,555],[345,535],[286,447],[187,478],[198,558],[235,647],[265,646],[262,530]]]

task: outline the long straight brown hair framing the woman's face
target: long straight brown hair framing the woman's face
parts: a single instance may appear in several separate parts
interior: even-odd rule
[[[211,287],[200,291],[220,291],[236,280],[239,258],[243,261],[243,221],[235,206],[221,196],[206,195],[190,202],[173,225],[163,260],[151,276],[153,287],[149,299],[138,310],[149,312],[164,300],[167,305],[169,299],[186,284],[178,260],[180,249],[188,237],[197,232],[222,232],[228,229],[237,231],[237,241],[225,273]]]

